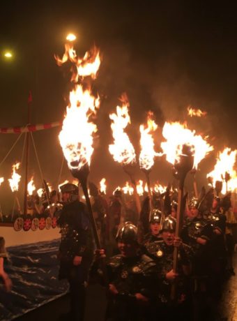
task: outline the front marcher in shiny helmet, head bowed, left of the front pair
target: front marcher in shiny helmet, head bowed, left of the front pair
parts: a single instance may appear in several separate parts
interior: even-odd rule
[[[157,290],[158,272],[155,262],[139,251],[137,227],[125,222],[119,227],[116,241],[121,254],[109,258],[99,250],[91,269],[91,277],[108,287],[107,321],[151,320],[151,301]],[[100,257],[104,257],[100,260]]]

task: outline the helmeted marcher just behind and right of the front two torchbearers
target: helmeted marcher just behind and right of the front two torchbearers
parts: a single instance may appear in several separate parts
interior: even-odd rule
[[[190,200],[189,217],[185,221],[181,238],[192,247],[192,299],[194,303],[194,320],[211,320],[210,286],[211,274],[210,241],[213,236],[211,222],[206,221],[199,211],[199,200]]]

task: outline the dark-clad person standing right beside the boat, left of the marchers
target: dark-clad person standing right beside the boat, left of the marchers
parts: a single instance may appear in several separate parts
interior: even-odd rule
[[[78,200],[78,187],[61,186],[65,204],[58,219],[61,232],[59,246],[59,279],[70,285],[70,316],[67,320],[84,320],[85,285],[93,259],[89,216],[84,203]],[[67,202],[66,202],[67,200]]]

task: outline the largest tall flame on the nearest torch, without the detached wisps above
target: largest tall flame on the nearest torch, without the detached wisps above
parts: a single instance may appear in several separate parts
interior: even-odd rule
[[[89,117],[95,115],[99,103],[99,98],[93,97],[89,89],[84,91],[81,85],[70,92],[70,105],[59,133],[59,141],[70,170],[79,170],[86,163],[91,164],[93,133],[97,127],[89,121]]]

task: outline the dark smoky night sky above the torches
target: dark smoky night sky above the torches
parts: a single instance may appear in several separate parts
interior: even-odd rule
[[[203,2],[203,4],[201,3]],[[107,151],[112,142],[109,112],[126,91],[132,126],[128,132],[137,147],[139,124],[153,110],[159,126],[165,120],[187,119],[188,105],[208,112],[188,125],[211,137],[216,150],[236,148],[237,25],[236,8],[228,2],[208,1],[7,1],[1,3],[0,126],[26,124],[27,96],[33,94],[32,124],[63,119],[68,97],[66,68],[56,66],[68,31],[77,33],[77,53],[95,43],[102,64],[93,87],[102,102],[91,179],[107,177],[112,186],[127,179]],[[5,48],[15,59],[5,61]],[[33,135],[45,179],[55,184],[61,165],[59,128]],[[3,159],[17,139],[1,135]],[[158,137],[157,137],[157,145]],[[22,157],[23,140],[0,168],[10,177],[11,164]],[[1,160],[0,160],[1,162]],[[199,181],[215,163],[215,154],[201,163]],[[162,168],[162,170],[160,170]],[[165,169],[165,170],[164,170]],[[152,179],[167,184],[170,165],[158,160]],[[31,147],[31,173],[38,177]],[[138,173],[142,177],[141,173]],[[70,177],[65,165],[63,177]],[[40,181],[38,182],[39,187]],[[7,189],[6,184],[6,189]]]

